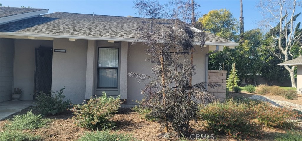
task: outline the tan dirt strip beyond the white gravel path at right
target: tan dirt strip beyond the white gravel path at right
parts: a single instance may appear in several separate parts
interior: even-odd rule
[[[259,95],[259,94],[256,94],[256,93],[248,93],[246,91],[243,91],[243,92],[240,92],[240,93],[233,93],[230,92],[230,97],[245,97],[245,98],[249,98],[249,97],[252,97],[253,95]],[[262,95],[262,96],[266,96],[268,98],[271,98],[271,99],[275,99],[275,100],[281,100],[281,101],[287,101],[287,102],[291,102],[291,103],[294,103],[294,104],[299,104],[299,105],[302,105],[302,95],[298,95],[297,98],[294,98],[292,100],[290,99],[285,99],[283,96],[281,95]]]

